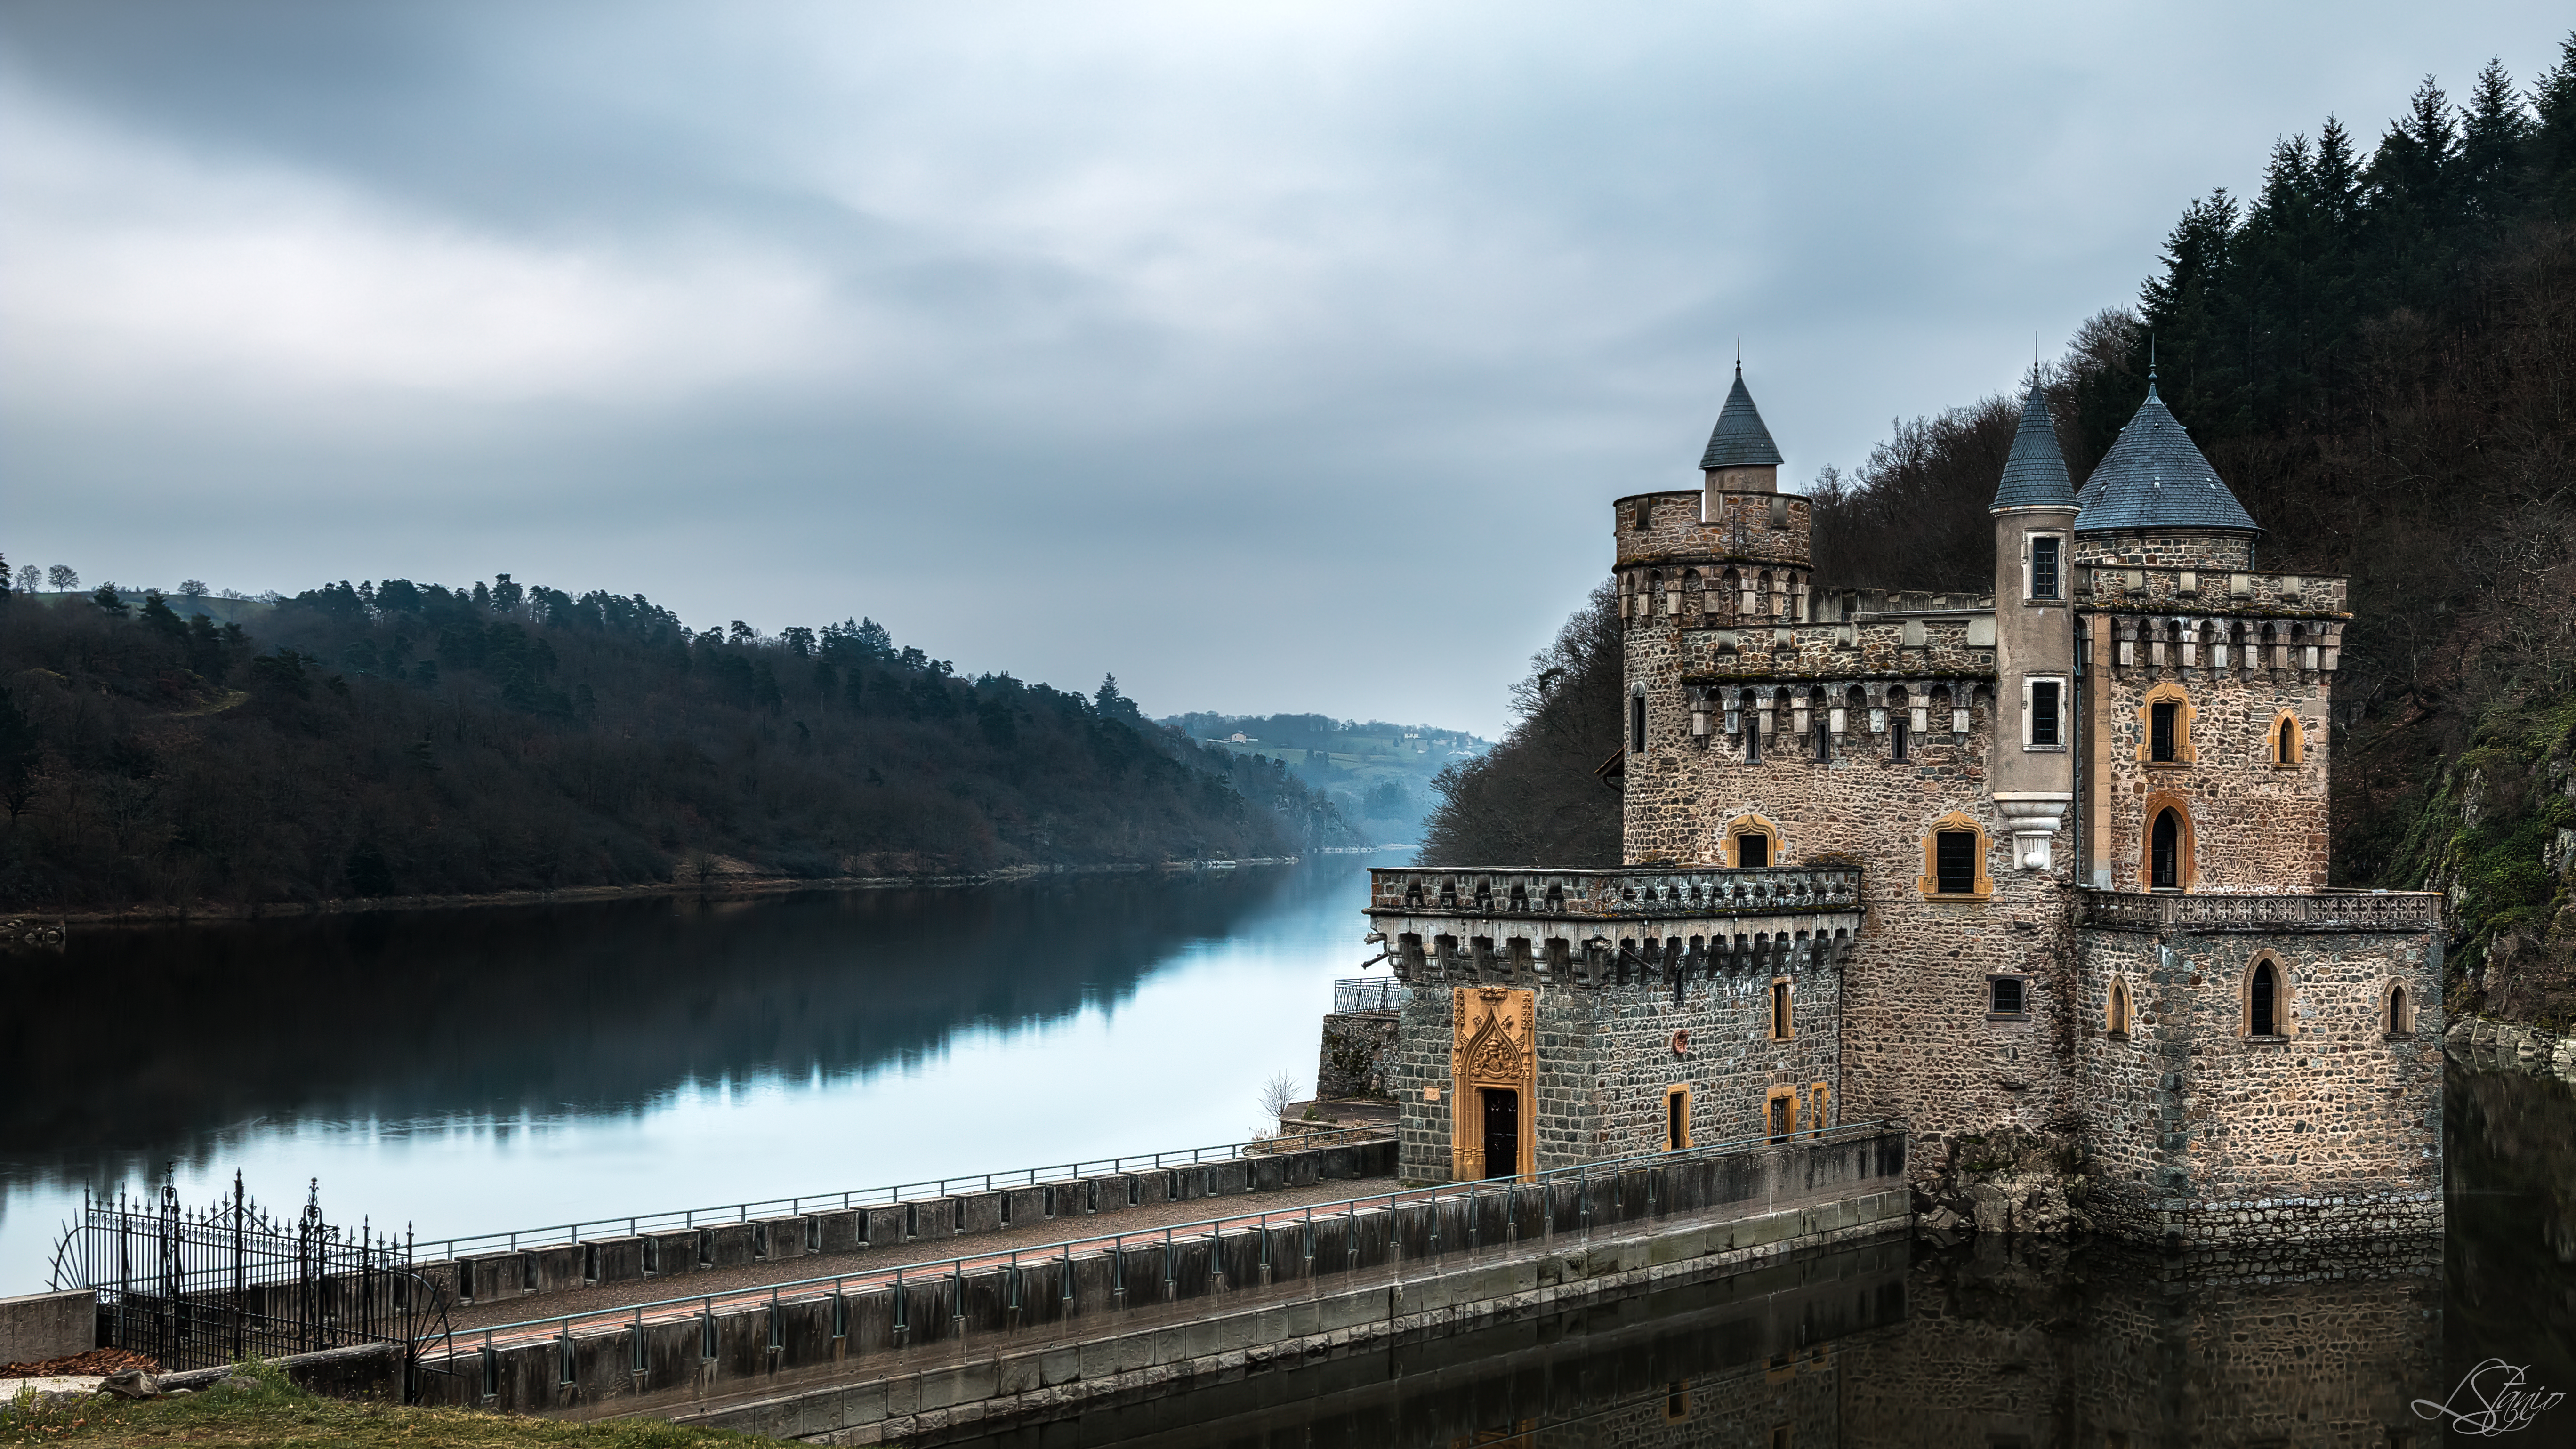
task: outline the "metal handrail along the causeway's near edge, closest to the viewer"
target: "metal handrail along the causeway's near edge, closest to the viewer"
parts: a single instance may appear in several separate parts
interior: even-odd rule
[[[1476,1191],[1486,1181],[1507,1181],[1510,1186],[1522,1186],[1522,1183],[1533,1183],[1533,1181],[1543,1183],[1543,1181],[1551,1181],[1551,1178],[1553,1181],[1564,1181],[1564,1178],[1587,1181],[1592,1173],[1615,1173],[1615,1171],[1641,1168],[1641,1165],[1656,1165],[1656,1163],[1690,1163],[1690,1160],[1698,1160],[1698,1158],[1728,1155],[1728,1152],[1736,1152],[1736,1150],[1744,1150],[1744,1147],[1798,1147],[1798,1145],[1816,1145],[1816,1142],[1847,1142],[1852,1137],[1870,1137],[1870,1134],[1886,1132],[1891,1127],[1901,1129],[1904,1119],[1899,1119],[1899,1116],[1880,1116],[1880,1119],[1873,1119],[1873,1122],[1844,1122],[1842,1127],[1826,1127],[1821,1132],[1790,1132],[1790,1134],[1783,1134],[1783,1137],[1775,1137],[1775,1134],[1765,1132],[1765,1134],[1757,1134],[1757,1137],[1731,1137],[1726,1142],[1703,1142],[1703,1145],[1674,1147],[1674,1150],[1662,1150],[1662,1152],[1633,1152],[1628,1158],[1605,1158],[1600,1163],[1574,1163],[1571,1168],[1546,1168],[1546,1171],[1522,1173],[1522,1176],[1515,1176],[1515,1178],[1471,1178],[1466,1183],[1435,1183],[1435,1186],[1417,1186],[1417,1189],[1394,1189],[1394,1191],[1347,1196],[1347,1199],[1334,1199],[1334,1201],[1311,1201],[1311,1204],[1303,1204],[1303,1207],[1278,1207],[1278,1209],[1267,1209],[1267,1212],[1236,1212],[1236,1214],[1229,1214],[1229,1217],[1203,1217],[1198,1222],[1175,1222],[1175,1225],[1167,1225],[1167,1227],[1141,1227],[1141,1230],[1133,1230],[1133,1232],[1095,1232],[1090,1238],[1059,1238],[1056,1243],[1038,1243],[1033,1248],[1010,1248],[1010,1250],[997,1248],[992,1253],[963,1253],[958,1258],[938,1258],[938,1261],[927,1261],[927,1263],[896,1263],[891,1269],[876,1269],[876,1271],[819,1274],[819,1276],[811,1276],[811,1279],[788,1279],[788,1281],[778,1281],[778,1284],[750,1284],[750,1287],[742,1287],[742,1289],[726,1289],[726,1292],[711,1292],[711,1294],[698,1292],[698,1294],[683,1294],[683,1297],[665,1297],[665,1299],[654,1299],[654,1302],[629,1302],[629,1305],[618,1305],[618,1307],[595,1307],[590,1312],[559,1312],[559,1315],[551,1315],[551,1318],[523,1318],[523,1320],[515,1320],[515,1323],[487,1325],[479,1333],[484,1338],[484,1351],[489,1351],[492,1348],[492,1338],[500,1336],[500,1333],[507,1333],[507,1336],[518,1338],[518,1336],[528,1336],[528,1330],[546,1328],[549,1333],[567,1333],[569,1336],[574,1323],[608,1323],[608,1320],[644,1323],[644,1312],[649,1312],[649,1310],[683,1307],[683,1305],[698,1307],[701,1312],[714,1312],[719,1297],[724,1297],[724,1299],[755,1299],[760,1294],[768,1294],[770,1299],[775,1299],[778,1294],[791,1292],[791,1289],[817,1289],[817,1287],[824,1287],[824,1284],[829,1284],[832,1292],[837,1294],[837,1292],[842,1292],[845,1284],[853,1284],[853,1281],[855,1284],[896,1284],[896,1287],[902,1287],[904,1284],[904,1274],[912,1274],[912,1279],[945,1279],[945,1276],[963,1276],[963,1271],[969,1266],[979,1266],[979,1263],[1005,1263],[1005,1266],[1018,1269],[1018,1263],[1020,1263],[1023,1256],[1025,1258],[1066,1258],[1069,1261],[1074,1256],[1074,1248],[1090,1248],[1090,1245],[1097,1245],[1097,1243],[1108,1243],[1110,1250],[1123,1250],[1131,1238],[1133,1240],[1164,1243],[1170,1248],[1180,1238],[1198,1238],[1200,1230],[1206,1230],[1206,1235],[1213,1240],[1218,1232],[1224,1232],[1224,1227],[1229,1222],[1231,1225],[1252,1222],[1255,1230],[1267,1230],[1273,1217],[1291,1220],[1291,1222],[1314,1222],[1316,1212],[1324,1212],[1327,1217],[1337,1214],[1337,1212],[1340,1214],[1358,1214],[1363,1209],[1363,1204],[1373,1204],[1373,1201],[1386,1201],[1388,1207],[1394,1207],[1396,1199],[1425,1199],[1425,1196],[1432,1199],[1432,1201],[1437,1201],[1440,1196],[1471,1196],[1473,1199]],[[1443,1194],[1443,1189],[1450,1189],[1450,1191]],[[1654,1186],[1649,1183],[1646,1191],[1651,1194]]]

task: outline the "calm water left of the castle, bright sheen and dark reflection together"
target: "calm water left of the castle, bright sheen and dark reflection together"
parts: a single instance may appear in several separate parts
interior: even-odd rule
[[[165,1163],[446,1238],[1236,1142],[1399,859],[75,928],[0,959],[0,1294]]]

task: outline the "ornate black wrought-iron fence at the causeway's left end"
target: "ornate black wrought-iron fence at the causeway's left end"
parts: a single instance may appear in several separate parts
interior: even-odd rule
[[[232,1196],[188,1209],[160,1199],[85,1199],[54,1245],[54,1289],[98,1294],[98,1346],[162,1369],[214,1369],[317,1348],[392,1343],[417,1364],[446,1333],[446,1294],[412,1271],[410,1235],[325,1222],[319,1183],[278,1222],[232,1178]],[[410,1372],[404,1374],[410,1385]]]

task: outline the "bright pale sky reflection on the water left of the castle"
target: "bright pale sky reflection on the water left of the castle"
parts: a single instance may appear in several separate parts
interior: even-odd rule
[[[407,1080],[350,1080],[340,1083],[345,1093],[335,1093],[374,1101],[376,1111],[350,1111],[350,1101],[312,1104],[294,1114],[204,1122],[178,1142],[116,1145],[118,1152],[85,1152],[90,1142],[23,1152],[23,1142],[10,1142],[0,1147],[0,1292],[41,1287],[46,1248],[77,1209],[82,1183],[124,1178],[126,1186],[144,1186],[142,1168],[170,1158],[180,1163],[178,1186],[188,1204],[214,1199],[240,1168],[252,1196],[270,1209],[291,1209],[304,1181],[319,1176],[322,1204],[335,1220],[410,1220],[422,1235],[446,1235],[1234,1142],[1262,1122],[1257,1093],[1265,1078],[1288,1070],[1311,1085],[1316,1029],[1329,1008],[1327,982],[1352,975],[1365,959],[1360,859],[1327,856],[1260,874],[1278,879],[1221,887],[1231,895],[1213,908],[1208,887],[1159,882],[1131,882],[1115,920],[1097,915],[1097,900],[1074,900],[1054,915],[1038,908],[1020,926],[1041,938],[1061,928],[1066,938],[1056,946],[1079,946],[1072,936],[1097,931],[1115,938],[1110,954],[1133,951],[1133,959],[1108,972],[1095,969],[1100,959],[1084,962],[1082,969],[1118,980],[1069,982],[1061,1006],[1012,1021],[987,1011],[994,990],[987,969],[974,982],[958,982],[956,1016],[922,1024],[914,1039],[886,1042],[858,1060],[814,1052],[801,1062],[744,1065],[690,1052],[696,1070],[690,1062],[662,1070],[623,1062],[631,1083],[659,1078],[670,1085],[623,1091],[616,1101],[598,1101],[587,1083],[533,1070],[526,1080],[554,1093],[544,1101],[531,1093],[518,1111],[471,1111],[484,1106],[474,1101],[438,1111],[435,1101],[404,1101],[422,1091],[435,1096],[440,1083],[422,1085],[417,1067],[389,1065],[384,1075]],[[1193,890],[1200,897],[1172,918],[1172,933],[1139,926],[1139,915],[1159,908],[1162,892]],[[726,933],[778,910],[791,905],[724,913]],[[935,918],[948,902],[930,900],[922,910]],[[1211,923],[1224,933],[1208,933]],[[657,938],[690,936],[659,931]],[[706,941],[706,933],[690,941]],[[1002,951],[1020,951],[1023,944],[1015,936]],[[1061,962],[1084,951],[1043,954]],[[1030,975],[1046,969],[1036,957],[1028,962]],[[513,980],[520,975],[513,962],[497,969]],[[742,987],[739,959],[726,959],[726,969],[737,995],[757,995],[757,987]],[[935,962],[909,957],[902,969],[935,969]],[[791,1000],[762,1008],[791,1016],[814,1011],[811,990],[783,990]],[[536,993],[520,982],[518,995]],[[855,1000],[866,1011],[866,990]],[[920,990],[904,1011],[922,1016]],[[399,1021],[374,1018],[332,1026],[402,1029]],[[577,1034],[582,1026],[572,1024]],[[613,1034],[616,1024],[603,1021],[600,1031]],[[832,1034],[796,1036],[796,1049],[809,1036]],[[541,1031],[531,1039],[544,1044]],[[590,1039],[582,1049],[600,1055],[613,1042]],[[471,1073],[461,1083],[489,1091],[489,1080],[477,1083]],[[23,1085],[77,1091],[77,1083],[62,1080]],[[567,1093],[590,1101],[554,1101]]]

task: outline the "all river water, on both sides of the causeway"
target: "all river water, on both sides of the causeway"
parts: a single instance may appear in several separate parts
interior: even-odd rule
[[[1231,1142],[1365,864],[75,931],[0,959],[0,1292],[165,1168],[446,1238]],[[989,1444],[2385,1446],[2512,1372],[2576,1444],[2576,1093],[2452,1062],[2447,1152],[2367,1263],[1878,1243]]]

